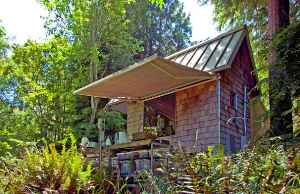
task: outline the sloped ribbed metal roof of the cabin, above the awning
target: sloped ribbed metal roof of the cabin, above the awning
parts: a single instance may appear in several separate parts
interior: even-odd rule
[[[246,26],[241,26],[165,58],[200,71],[219,72],[224,68],[230,68],[247,34]]]

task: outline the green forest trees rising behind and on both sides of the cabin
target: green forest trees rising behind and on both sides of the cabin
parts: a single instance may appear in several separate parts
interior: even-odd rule
[[[49,11],[44,27],[50,39],[42,43],[28,39],[24,45],[10,45],[5,29],[0,28],[1,156],[17,157],[26,144],[56,144],[70,132],[79,140],[85,134],[96,141],[97,113],[108,99],[73,96],[72,91],[152,54],[166,56],[197,43],[189,40],[189,15],[178,0],[159,1],[158,6],[149,0],[39,2]],[[267,35],[268,1],[199,3],[214,5],[219,30],[248,25],[261,80],[257,87],[262,88],[260,98],[267,106],[267,78],[273,68],[267,63],[269,48],[280,54],[275,69],[279,73],[283,70],[280,79],[284,84],[280,83],[279,88],[288,88],[292,106],[279,114],[292,114],[294,122],[287,123],[286,129],[298,129],[299,1],[288,1],[289,25],[272,44]],[[286,91],[278,91],[274,99],[286,96]],[[269,111],[264,119],[271,115]],[[118,112],[109,112],[106,122],[107,135],[125,129],[124,115]]]

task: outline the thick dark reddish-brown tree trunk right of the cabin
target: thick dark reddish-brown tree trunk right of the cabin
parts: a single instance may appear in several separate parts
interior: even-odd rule
[[[272,44],[272,37],[278,32],[279,28],[289,24],[289,0],[269,0],[268,4],[268,35]],[[278,56],[269,51],[269,103],[270,103],[270,122],[272,136],[292,133],[292,114],[282,113],[291,109],[291,96],[288,83],[284,79],[286,72],[280,75],[272,64],[278,61]],[[279,56],[280,57],[280,56]],[[282,78],[283,76],[283,78]],[[290,126],[289,126],[290,125]],[[288,127],[289,126],[289,127]]]

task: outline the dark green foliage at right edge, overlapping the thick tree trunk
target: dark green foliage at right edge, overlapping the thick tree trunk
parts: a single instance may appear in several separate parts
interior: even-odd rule
[[[292,23],[281,29],[272,39],[271,50],[274,51],[278,61],[272,68],[276,70],[278,79],[284,83],[284,88],[290,90],[293,107],[283,114],[293,113],[294,131],[300,130],[300,24]],[[278,85],[276,85],[278,87]],[[280,99],[280,96],[274,98]]]

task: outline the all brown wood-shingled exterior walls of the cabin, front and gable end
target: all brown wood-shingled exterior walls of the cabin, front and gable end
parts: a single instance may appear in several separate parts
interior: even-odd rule
[[[237,51],[229,69],[220,74],[220,143],[226,151],[227,135],[234,137],[235,152],[241,148],[241,137],[247,137],[247,141],[253,139],[257,129],[250,124],[253,117],[249,106],[246,106],[246,134],[243,122],[243,96],[244,85],[248,93],[250,82],[253,80],[249,71],[250,58],[245,45]],[[252,80],[250,80],[252,79]],[[218,117],[217,117],[217,81],[212,80],[197,86],[193,86],[176,92],[176,121],[175,135],[158,139],[168,140],[173,146],[180,142],[183,147],[195,146],[192,151],[206,150],[208,146],[218,143]],[[230,106],[230,92],[236,95],[236,108]],[[246,103],[250,102],[250,96],[246,96]],[[261,112],[262,106],[254,108]],[[256,110],[257,109],[257,110]],[[259,112],[259,114],[261,114]],[[256,114],[256,113],[255,113]],[[239,123],[233,122],[238,118]],[[255,116],[256,117],[256,116]],[[143,122],[143,103],[128,104],[127,136],[137,132],[138,126]],[[196,137],[197,136],[197,137]],[[197,139],[197,142],[196,142]]]

